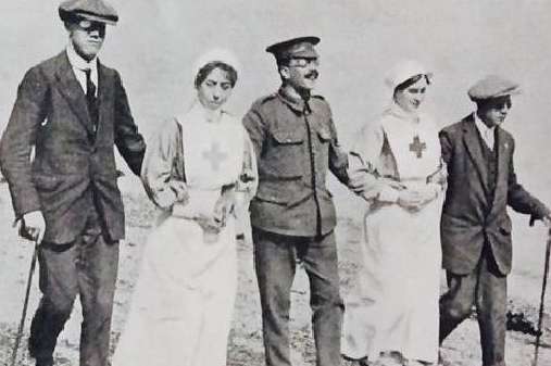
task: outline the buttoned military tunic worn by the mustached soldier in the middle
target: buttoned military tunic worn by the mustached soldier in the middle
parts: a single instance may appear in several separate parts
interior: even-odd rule
[[[261,98],[243,118],[256,153],[259,189],[251,225],[288,236],[314,237],[336,225],[329,169],[348,181],[329,104],[318,96],[293,100],[283,89]]]

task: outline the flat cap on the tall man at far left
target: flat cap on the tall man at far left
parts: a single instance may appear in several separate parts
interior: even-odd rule
[[[66,0],[60,4],[59,13],[63,22],[82,17],[115,25],[118,21],[115,9],[103,0]]]

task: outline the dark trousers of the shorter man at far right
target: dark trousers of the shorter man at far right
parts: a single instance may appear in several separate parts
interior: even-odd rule
[[[447,273],[448,292],[440,298],[440,343],[476,305],[484,366],[505,366],[506,276],[488,248],[468,275]]]

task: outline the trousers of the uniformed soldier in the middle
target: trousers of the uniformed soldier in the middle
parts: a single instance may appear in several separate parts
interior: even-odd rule
[[[252,236],[266,365],[291,365],[289,308],[297,261],[303,263],[310,280],[316,365],[340,365],[340,331],[345,305],[339,293],[335,235],[330,232],[318,238],[290,237],[253,228]]]

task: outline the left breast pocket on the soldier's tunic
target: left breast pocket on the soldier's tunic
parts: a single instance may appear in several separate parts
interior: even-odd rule
[[[304,131],[300,129],[278,129],[272,131],[273,146],[267,160],[272,174],[281,178],[302,176],[302,162],[305,156]]]

